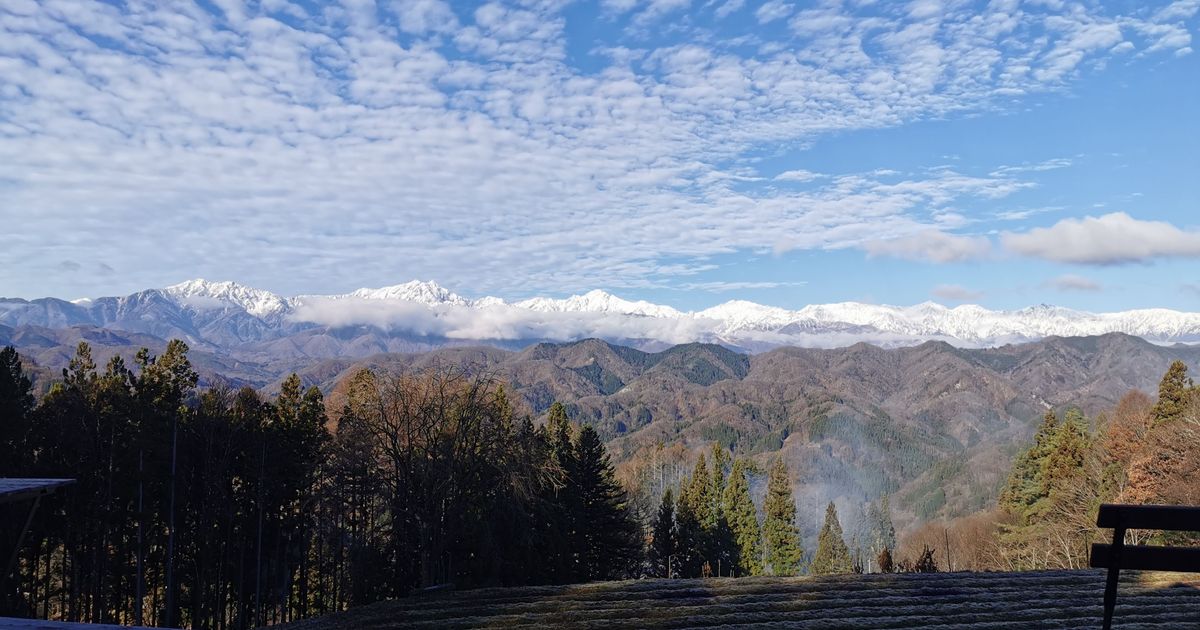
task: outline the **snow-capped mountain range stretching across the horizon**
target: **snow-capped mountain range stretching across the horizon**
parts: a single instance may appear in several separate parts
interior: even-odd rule
[[[840,302],[790,311],[732,300],[682,312],[602,290],[516,302],[491,296],[472,300],[421,281],[294,298],[235,282],[191,280],[122,298],[0,299],[0,326],[96,326],[184,337],[217,348],[274,343],[268,350],[272,353],[278,350],[280,340],[290,340],[287,352],[308,356],[408,349],[414,340],[420,340],[420,347],[436,347],[438,340],[520,346],[600,337],[642,347],[700,341],[744,350],[859,341],[906,346],[929,340],[988,347],[1106,332],[1154,343],[1200,342],[1200,313],[1163,308],[1090,313],[1046,305],[990,311],[934,302],[907,307]],[[358,330],[359,337],[348,330]],[[361,341],[364,335],[371,337],[368,342]],[[407,346],[394,340],[406,340]]]

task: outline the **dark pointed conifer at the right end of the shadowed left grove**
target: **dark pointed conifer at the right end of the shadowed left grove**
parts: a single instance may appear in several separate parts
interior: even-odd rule
[[[580,497],[581,577],[617,580],[640,564],[640,528],[600,436],[583,426],[575,443],[574,481]]]

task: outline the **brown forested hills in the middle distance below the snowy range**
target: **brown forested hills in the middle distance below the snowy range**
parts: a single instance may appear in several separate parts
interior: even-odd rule
[[[802,512],[836,500],[853,523],[871,499],[892,493],[905,528],[992,504],[1046,409],[1079,406],[1094,416],[1132,389],[1153,392],[1176,359],[1195,370],[1200,348],[1111,334],[995,349],[929,342],[744,355],[712,344],[643,353],[587,340],[326,361],[301,378],[322,385],[336,409],[338,384],[362,366],[486,370],[535,414],[557,400],[595,426],[631,485],[653,486],[648,500],[686,470],[689,448],[718,442],[762,463],[782,454]],[[802,518],[810,540],[816,524]]]

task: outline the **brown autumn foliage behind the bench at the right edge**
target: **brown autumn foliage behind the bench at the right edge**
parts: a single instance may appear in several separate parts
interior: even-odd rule
[[[1171,404],[1135,390],[1102,414],[1082,457],[1056,456],[1066,444],[1058,442],[1040,445],[1044,452],[1032,461],[1027,452],[1022,474],[1040,470],[1064,481],[1044,484],[1042,498],[1024,514],[1001,505],[926,523],[901,541],[898,565],[931,548],[948,570],[1081,568],[1090,542],[1109,535],[1096,528],[1100,503],[1200,505],[1200,388],[1183,372],[1172,366],[1163,378],[1160,391],[1170,391]],[[1200,542],[1195,535],[1153,532],[1128,536],[1129,542]]]

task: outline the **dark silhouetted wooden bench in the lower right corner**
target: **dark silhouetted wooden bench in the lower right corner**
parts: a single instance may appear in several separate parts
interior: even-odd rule
[[[1200,572],[1200,547],[1126,545],[1127,529],[1200,532],[1200,508],[1183,505],[1100,505],[1097,527],[1112,529],[1112,544],[1092,545],[1092,566],[1108,569],[1104,586],[1104,630],[1112,628],[1121,569]]]

